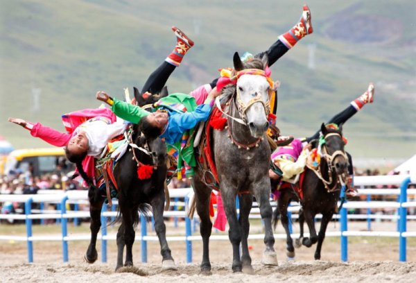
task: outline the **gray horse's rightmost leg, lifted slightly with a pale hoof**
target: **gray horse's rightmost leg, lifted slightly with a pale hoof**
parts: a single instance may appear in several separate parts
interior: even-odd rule
[[[259,203],[261,220],[264,223],[264,244],[266,250],[263,252],[262,263],[265,265],[277,265],[277,255],[275,252],[275,237],[272,228],[272,206],[270,205],[270,179],[264,178],[263,182],[253,184],[254,196]]]

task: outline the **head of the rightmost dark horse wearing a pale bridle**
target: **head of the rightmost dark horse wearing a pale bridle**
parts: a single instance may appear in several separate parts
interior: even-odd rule
[[[324,159],[330,167],[336,170],[336,173],[342,175],[347,171],[348,157],[345,153],[345,142],[343,139],[342,125],[339,127],[335,124],[321,126],[322,137],[320,139],[321,151]]]

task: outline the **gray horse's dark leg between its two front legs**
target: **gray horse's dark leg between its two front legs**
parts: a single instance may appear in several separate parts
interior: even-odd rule
[[[254,269],[252,268],[252,259],[248,250],[248,232],[250,231],[250,222],[248,221],[248,216],[250,214],[250,210],[252,209],[253,196],[252,194],[242,194],[239,196],[239,201],[239,223],[243,232],[243,237],[241,238],[241,264],[243,266],[243,273],[254,274]]]

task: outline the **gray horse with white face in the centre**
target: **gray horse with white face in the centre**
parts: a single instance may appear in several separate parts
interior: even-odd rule
[[[269,96],[272,87],[263,70],[268,58],[254,58],[250,62],[241,62],[238,53],[234,53],[236,85],[223,89],[222,97],[229,97],[225,107],[227,129],[214,130],[211,133],[214,162],[220,181],[220,193],[223,198],[225,214],[229,222],[229,241],[233,248],[232,270],[234,272],[254,273],[248,251],[248,216],[252,208],[253,196],[260,207],[261,218],[265,225],[263,264],[277,265],[273,248],[275,239],[272,232],[272,207],[270,206],[270,179],[268,165],[270,146],[266,138],[268,129]],[[198,167],[198,166],[197,166]],[[204,170],[196,169],[193,178],[196,209],[200,216],[200,234],[203,243],[201,273],[211,273],[209,261],[209,237],[212,223],[209,218],[209,199],[211,187],[203,180]],[[237,217],[236,196],[239,196],[240,216]],[[242,255],[239,246],[241,243]]]

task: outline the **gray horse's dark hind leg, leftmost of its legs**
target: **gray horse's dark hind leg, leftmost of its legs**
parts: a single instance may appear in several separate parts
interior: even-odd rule
[[[212,223],[209,217],[209,201],[211,200],[211,189],[205,187],[199,179],[193,178],[193,188],[196,198],[196,212],[200,217],[200,234],[202,237],[202,262],[201,273],[211,275],[211,262],[209,261],[209,237],[211,237]]]

